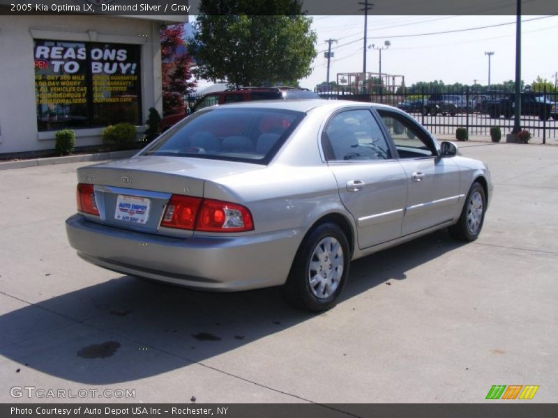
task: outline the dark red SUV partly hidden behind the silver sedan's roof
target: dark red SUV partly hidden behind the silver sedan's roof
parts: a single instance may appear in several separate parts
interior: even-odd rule
[[[252,100],[319,99],[319,95],[308,88],[295,87],[241,87],[208,93],[199,98],[191,111],[197,111],[214,104],[250,102]],[[165,132],[175,123],[188,116],[187,112],[166,116],[159,123],[159,132]]]

